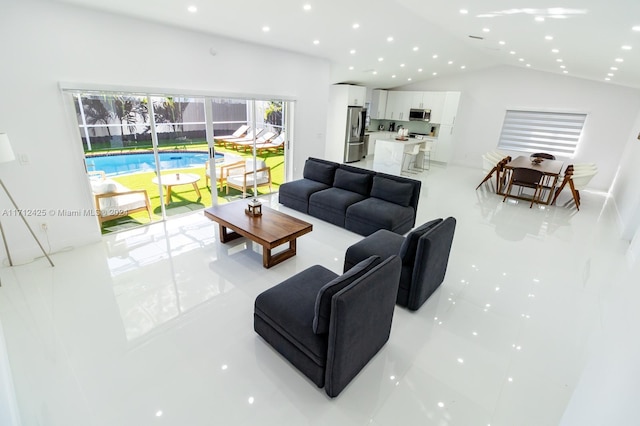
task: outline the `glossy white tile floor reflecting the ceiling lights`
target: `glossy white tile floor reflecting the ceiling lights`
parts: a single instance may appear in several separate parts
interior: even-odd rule
[[[202,213],[54,254],[55,268],[1,269],[23,425],[637,424],[624,397],[638,394],[638,267],[605,196],[529,209],[474,191],[480,170],[415,177],[418,223],[458,220],[445,282],[419,311],[396,309],[389,342],[338,398],[254,333],[253,301],[316,263],[339,273],[361,237],[272,197],[314,230],[270,270],[244,240],[219,243]],[[598,421],[610,412],[618,422]]]

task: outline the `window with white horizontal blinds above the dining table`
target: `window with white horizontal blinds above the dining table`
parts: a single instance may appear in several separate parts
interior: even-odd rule
[[[498,148],[573,157],[586,114],[507,110]]]

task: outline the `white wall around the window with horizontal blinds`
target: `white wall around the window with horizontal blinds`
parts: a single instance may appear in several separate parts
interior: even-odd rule
[[[452,163],[481,166],[481,155],[496,149],[505,110],[533,108],[588,113],[574,162],[594,162],[591,187],[608,190],[635,118],[640,91],[613,84],[518,67],[494,67],[414,83],[398,90],[462,92],[456,117]]]

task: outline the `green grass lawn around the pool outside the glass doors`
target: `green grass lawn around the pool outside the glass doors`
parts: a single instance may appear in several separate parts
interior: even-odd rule
[[[207,152],[208,148],[206,144],[202,145],[189,145],[185,147],[189,151],[203,151]],[[175,148],[169,148],[175,149]],[[162,149],[162,151],[167,149]],[[132,150],[127,150],[131,152]],[[139,150],[143,152],[143,150]],[[148,152],[148,150],[144,150]],[[233,153],[240,155],[247,159],[252,158],[250,152],[243,153],[233,149],[225,149],[216,147],[216,152],[219,153]],[[104,152],[103,152],[104,153]],[[273,191],[277,192],[278,187],[284,182],[284,155],[282,153],[268,152],[258,156],[259,159],[264,160],[267,166],[271,167],[271,181],[273,182]],[[167,216],[174,216],[177,214],[186,213],[189,211],[200,210],[211,206],[211,188],[206,186],[205,169],[204,164],[201,166],[183,168],[183,169],[171,169],[163,170],[161,174],[173,174],[173,173],[190,173],[200,176],[200,180],[197,182],[198,189],[200,190],[201,198],[195,192],[192,185],[180,185],[174,186],[171,190],[171,202],[166,206]],[[121,183],[130,189],[145,189],[149,194],[149,200],[151,201],[151,209],[153,215],[152,221],[157,221],[162,218],[162,210],[160,207],[161,196],[158,192],[158,185],[151,182],[155,177],[154,172],[132,173],[129,175],[113,176],[111,179]],[[211,182],[209,183],[211,185]],[[269,187],[258,188],[258,194],[269,193]],[[252,191],[247,192],[247,196],[251,196]],[[229,201],[239,200],[242,198],[242,192],[234,188],[229,188],[229,194],[226,193],[226,188],[217,188],[218,203],[227,203]],[[102,233],[109,233],[119,231],[122,229],[131,228],[133,226],[139,226],[145,223],[149,223],[149,216],[146,212],[133,213],[130,216],[114,219],[104,222],[102,225]]]

